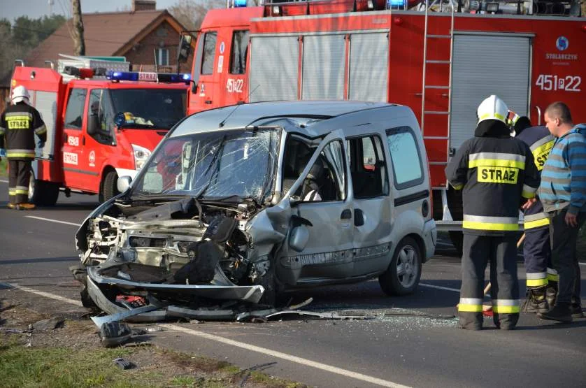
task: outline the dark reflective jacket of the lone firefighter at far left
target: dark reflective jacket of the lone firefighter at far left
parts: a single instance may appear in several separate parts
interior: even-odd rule
[[[34,159],[34,134],[43,143],[47,140],[41,115],[27,103],[9,106],[0,116],[0,148],[6,148],[9,159]]]

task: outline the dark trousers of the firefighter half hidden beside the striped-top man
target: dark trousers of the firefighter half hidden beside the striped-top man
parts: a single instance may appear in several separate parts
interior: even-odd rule
[[[525,230],[523,257],[527,287],[543,287],[548,285],[549,281],[557,282],[557,271],[552,264],[548,226]]]

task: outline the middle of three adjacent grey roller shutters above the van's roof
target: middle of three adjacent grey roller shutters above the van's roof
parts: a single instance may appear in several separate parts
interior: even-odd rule
[[[342,34],[303,38],[304,100],[344,98],[344,51]]]

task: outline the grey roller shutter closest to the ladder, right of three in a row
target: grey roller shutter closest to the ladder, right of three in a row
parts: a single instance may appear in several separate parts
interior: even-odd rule
[[[387,101],[387,32],[350,36],[350,100]]]

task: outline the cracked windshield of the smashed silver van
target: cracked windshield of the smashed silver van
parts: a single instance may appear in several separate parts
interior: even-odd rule
[[[169,138],[133,184],[134,194],[263,201],[276,175],[280,129]]]

